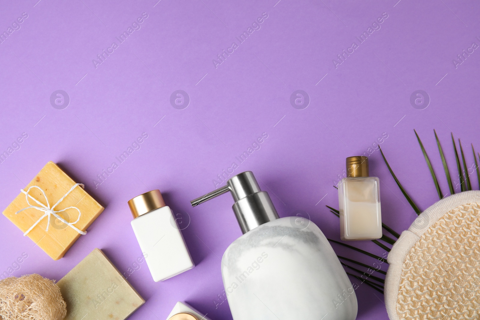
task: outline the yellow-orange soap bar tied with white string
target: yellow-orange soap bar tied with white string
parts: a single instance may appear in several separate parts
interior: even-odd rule
[[[50,207],[61,199],[73,186],[75,181],[63,172],[55,163],[48,162],[42,170],[25,187],[25,191],[31,186],[38,186],[45,191]],[[47,201],[40,190],[32,188],[29,194],[37,201],[47,205]],[[29,199],[31,205],[39,206],[35,201]],[[25,194],[20,193],[8,207],[3,211],[3,215],[12,221],[22,232],[27,231],[36,221],[45,214],[45,212],[30,208],[18,214],[17,211],[28,207],[25,200]],[[103,211],[103,207],[96,202],[81,186],[77,186],[68,196],[63,199],[55,208],[55,211],[68,207],[77,207],[80,212],[80,220],[74,226],[85,231],[88,226]],[[73,223],[78,218],[76,209],[67,209],[64,212],[57,213],[65,221]],[[53,260],[59,260],[72,244],[80,237],[80,234],[69,225],[63,223],[60,219],[50,215],[50,225],[46,231],[48,217],[43,218],[28,234],[41,249],[43,249]]]

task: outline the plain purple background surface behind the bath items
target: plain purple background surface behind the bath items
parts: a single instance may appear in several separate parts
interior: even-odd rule
[[[433,129],[456,182],[450,132],[464,142],[468,166],[474,163],[470,142],[480,151],[479,50],[458,68],[452,62],[472,42],[480,44],[478,1],[21,0],[0,5],[1,32],[22,12],[28,14],[21,29],[0,44],[0,151],[22,132],[28,134],[0,165],[0,207],[50,160],[106,207],[60,261],[34,247],[1,215],[0,272],[26,252],[28,258],[12,275],[39,273],[59,280],[94,248],[127,272],[141,255],[127,201],[160,189],[182,221],[190,219],[183,235],[196,267],[155,283],[141,264],[128,281],[146,303],[132,320],[163,320],[177,301],[212,320],[232,319],[227,302],[216,308],[214,301],[223,293],[219,258],[241,235],[233,201],[224,195],[196,208],[189,201],[215,189],[217,175],[232,162],[239,164],[235,157],[263,132],[268,138],[260,150],[234,174],[252,170],[280,216],[301,211],[334,239],[338,218],[325,205],[338,206],[332,185],[343,174],[345,157],[367,152],[384,132],[384,153],[421,210],[438,196],[413,129],[444,194],[448,187]],[[115,37],[143,12],[148,18],[141,29],[95,68],[92,59],[118,42]],[[212,59],[238,43],[235,37],[263,12],[268,18],[261,29],[215,68]],[[381,29],[335,68],[332,60],[358,43],[355,37],[383,12],[388,18]],[[71,99],[63,110],[49,102],[58,89]],[[179,89],[191,99],[183,110],[169,102]],[[311,99],[303,110],[289,102],[298,89]],[[423,110],[409,102],[419,89],[431,98]],[[148,138],[141,149],[96,186],[102,169],[143,132]],[[370,165],[371,175],[381,179],[383,221],[401,232],[415,213],[378,151]],[[371,242],[353,245],[384,253]],[[333,247],[338,254],[374,262]],[[381,294],[365,284],[356,293],[357,319],[388,318]]]

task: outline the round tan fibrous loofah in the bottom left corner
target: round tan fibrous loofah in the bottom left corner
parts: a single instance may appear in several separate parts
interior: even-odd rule
[[[0,281],[0,319],[62,320],[66,303],[54,281],[38,274]]]

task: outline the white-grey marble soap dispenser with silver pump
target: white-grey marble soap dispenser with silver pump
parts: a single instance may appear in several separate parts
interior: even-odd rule
[[[354,320],[354,288],[318,226],[305,218],[279,218],[251,171],[191,201],[192,206],[228,191],[243,233],[221,264],[233,319]]]

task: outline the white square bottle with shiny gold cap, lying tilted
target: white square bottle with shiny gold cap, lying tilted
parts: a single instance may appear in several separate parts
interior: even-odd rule
[[[195,266],[159,190],[141,194],[128,201],[128,205],[133,214],[133,232],[154,281],[167,280]]]

